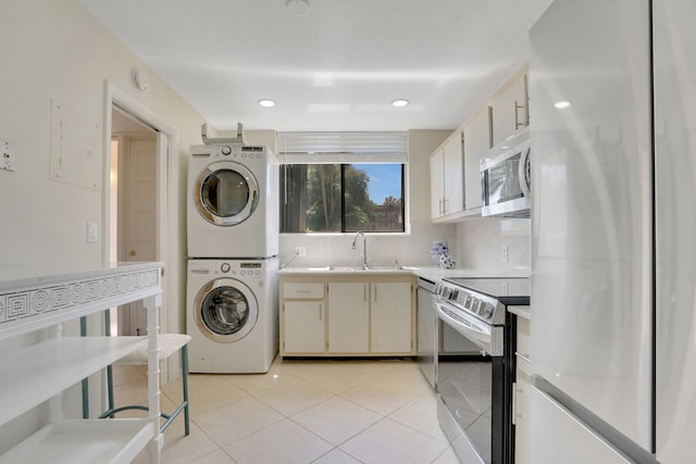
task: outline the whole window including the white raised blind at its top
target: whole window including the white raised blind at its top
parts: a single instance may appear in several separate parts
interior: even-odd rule
[[[405,133],[279,133],[281,233],[403,233]]]

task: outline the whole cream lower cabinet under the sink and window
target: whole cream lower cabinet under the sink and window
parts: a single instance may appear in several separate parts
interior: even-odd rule
[[[281,274],[281,356],[414,355],[411,274]]]

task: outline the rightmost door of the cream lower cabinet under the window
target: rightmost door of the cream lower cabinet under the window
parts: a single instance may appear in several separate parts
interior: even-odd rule
[[[371,352],[410,353],[411,284],[372,284]]]

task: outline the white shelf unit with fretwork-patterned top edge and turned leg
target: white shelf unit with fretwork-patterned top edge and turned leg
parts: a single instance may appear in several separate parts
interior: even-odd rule
[[[145,448],[151,463],[160,462],[157,354],[162,268],[162,263],[116,263],[57,274],[0,269],[24,275],[0,280],[0,339],[49,329],[47,340],[0,356],[0,424],[50,401],[48,424],[0,455],[0,464],[128,463]],[[147,337],[61,337],[61,324],[69,319],[137,300],[148,309]],[[146,344],[146,418],[63,418],[63,390]]]

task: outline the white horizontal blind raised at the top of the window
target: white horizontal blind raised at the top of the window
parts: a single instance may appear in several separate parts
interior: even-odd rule
[[[407,163],[408,133],[277,133],[283,164]]]

